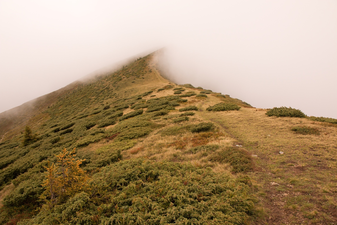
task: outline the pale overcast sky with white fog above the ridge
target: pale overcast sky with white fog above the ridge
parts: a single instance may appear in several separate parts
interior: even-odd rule
[[[337,118],[336,0],[0,0],[0,112],[161,47],[179,84]]]

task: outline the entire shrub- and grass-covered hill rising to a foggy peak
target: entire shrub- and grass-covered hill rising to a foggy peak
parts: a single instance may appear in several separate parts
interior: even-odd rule
[[[334,119],[174,84],[156,54],[2,115],[0,224],[336,222]]]

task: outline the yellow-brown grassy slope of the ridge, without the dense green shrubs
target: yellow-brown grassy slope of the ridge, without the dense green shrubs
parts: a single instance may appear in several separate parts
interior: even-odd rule
[[[51,148],[50,152],[43,149],[36,150],[41,148],[43,144],[35,147],[35,150],[29,146],[10,148],[11,156],[15,156],[15,154],[17,156],[14,157],[12,164],[2,168],[2,173],[9,171],[16,164],[16,161],[18,161],[17,163],[20,163],[20,159],[27,161],[32,155],[38,154],[40,160],[22,171],[22,173],[27,171],[25,174],[29,176],[30,171],[45,162],[45,158],[52,157],[54,152],[58,152],[62,147],[76,146],[81,140],[92,135],[89,134],[90,131],[103,132],[105,136],[109,136],[116,133],[116,130],[120,129],[127,121],[132,121],[130,119],[125,120],[125,122],[117,120],[115,125],[100,129],[96,125],[88,131],[81,131],[83,133],[75,133],[78,132],[76,129],[80,129],[77,127],[80,123],[90,120],[104,120],[104,118],[99,117],[103,111],[97,115],[92,114],[101,110],[104,105],[111,104],[112,108],[122,103],[130,105],[139,101],[136,100],[137,95],[171,84],[170,81],[160,76],[152,56],[143,60],[133,62],[121,72],[117,71],[97,81],[80,85],[76,87],[74,92],[67,92],[59,97],[58,101],[50,102],[52,104],[50,109],[45,108],[46,110],[42,114],[32,117],[27,124],[41,136],[45,132],[51,132],[54,128],[50,127],[55,124],[58,124],[56,127],[61,127],[75,121],[74,131],[60,135],[58,143],[48,144],[45,148]],[[106,89],[107,86],[110,87],[109,90]],[[182,94],[189,91],[198,94],[202,91],[186,86],[183,88],[185,91]],[[154,91],[150,95],[143,96],[142,100],[173,95],[172,89],[166,88],[160,92]],[[184,97],[183,99],[188,100],[186,103],[181,102],[179,106],[175,107],[175,110],[170,110],[164,116],[156,117],[153,116],[154,113],[145,112],[143,115],[135,117],[140,118],[140,121],[150,121],[151,125],[148,127],[150,132],[145,136],[131,139],[130,147],[124,148],[122,151],[123,159],[147,157],[152,160],[191,161],[195,166],[211,167],[215,172],[237,177],[240,176],[240,172],[233,173],[235,165],[230,161],[220,160],[219,155],[232,149],[242,151],[247,153],[249,160],[253,162],[253,169],[244,172],[248,172],[253,179],[252,192],[260,200],[256,208],[256,212],[260,215],[252,221],[253,223],[329,224],[330,222],[336,222],[336,126],[312,122],[304,118],[267,117],[265,115],[266,110],[251,108],[238,99],[217,93],[207,94],[207,96],[207,98]],[[232,102],[243,107],[239,111],[206,111],[209,105],[220,102]],[[181,114],[178,109],[188,105],[196,105],[200,110],[193,111],[195,115],[189,116],[188,121],[175,122],[179,118],[177,116]],[[134,111],[130,107],[122,110],[124,115]],[[144,108],[144,111],[146,110],[147,108]],[[80,118],[81,115],[89,116],[76,119],[76,117]],[[215,130],[199,134],[189,131],[189,127],[193,124],[205,121],[213,122],[216,125]],[[11,130],[11,135],[5,136],[2,141],[5,144],[0,147],[3,148],[3,146],[8,146],[11,143],[20,143],[23,138],[21,131],[23,131],[23,124],[25,123],[26,121],[22,121],[22,125]],[[290,130],[296,125],[316,127],[321,132],[319,135],[296,134]],[[57,137],[57,133],[52,132],[51,134],[52,136],[47,137],[46,140]],[[94,137],[98,137],[96,141],[78,148],[80,157],[88,158],[90,156],[94,163],[95,157],[103,157],[97,155],[97,149],[116,143],[109,138],[103,138],[104,135],[99,135],[101,133],[94,135]],[[12,137],[12,139],[9,139],[9,137]],[[242,145],[243,147],[234,147],[235,145]],[[198,148],[198,146],[206,147]],[[217,146],[217,148],[212,149],[212,146]],[[7,151],[7,149],[5,150]],[[279,154],[279,151],[283,151],[284,154]],[[251,154],[256,154],[257,157],[250,158]],[[3,160],[7,156],[1,157],[1,160]],[[15,175],[14,178],[19,174]],[[27,179],[25,174],[16,178],[14,183],[18,185],[19,181]],[[271,182],[276,182],[279,185],[271,185]],[[7,194],[8,191],[5,190],[12,189],[10,182],[3,187],[3,193]],[[3,195],[3,193],[0,194]],[[0,198],[3,198],[3,196],[0,196]],[[259,206],[264,209],[259,208]]]

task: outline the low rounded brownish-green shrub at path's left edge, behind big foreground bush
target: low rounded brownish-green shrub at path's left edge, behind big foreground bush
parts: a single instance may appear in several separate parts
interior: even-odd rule
[[[210,156],[209,160],[228,163],[232,166],[232,171],[235,173],[248,172],[253,168],[249,152],[240,147],[232,147],[228,150],[217,152]]]

